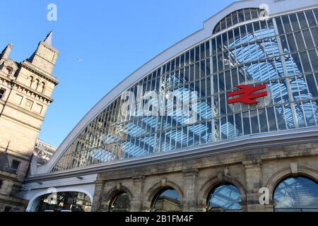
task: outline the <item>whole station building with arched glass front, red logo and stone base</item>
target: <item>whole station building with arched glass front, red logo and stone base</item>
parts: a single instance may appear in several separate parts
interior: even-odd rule
[[[315,0],[235,1],[31,164],[27,211],[317,211],[317,40]]]

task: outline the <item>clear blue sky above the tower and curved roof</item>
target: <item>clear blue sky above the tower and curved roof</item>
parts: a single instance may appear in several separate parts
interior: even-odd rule
[[[115,85],[155,55],[203,27],[203,21],[233,1],[6,1],[0,44],[13,42],[11,58],[27,59],[53,29],[60,56],[59,85],[40,138],[59,145],[88,110]],[[47,5],[57,5],[57,21]],[[81,60],[78,60],[81,59]]]

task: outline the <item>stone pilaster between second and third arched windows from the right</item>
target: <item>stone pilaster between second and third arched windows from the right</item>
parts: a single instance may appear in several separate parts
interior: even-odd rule
[[[198,169],[185,169],[183,173],[183,201],[182,211],[195,212],[197,211],[196,199],[198,191],[196,187],[196,179],[198,177]]]

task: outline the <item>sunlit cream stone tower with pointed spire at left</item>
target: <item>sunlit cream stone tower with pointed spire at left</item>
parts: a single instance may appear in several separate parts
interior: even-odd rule
[[[18,63],[9,58],[8,44],[0,59],[0,153],[7,148],[8,164],[16,173],[11,195],[23,184],[35,140],[45,119],[57,78],[52,71],[59,52],[52,47],[52,32],[34,54]]]

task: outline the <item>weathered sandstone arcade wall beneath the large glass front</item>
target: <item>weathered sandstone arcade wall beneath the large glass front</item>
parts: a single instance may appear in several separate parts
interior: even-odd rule
[[[128,194],[131,211],[150,211],[166,187],[175,189],[182,211],[206,211],[210,192],[223,183],[237,187],[242,211],[273,211],[273,190],[281,179],[303,175],[318,181],[318,143],[253,148],[235,153],[180,160],[146,167],[117,169],[98,175],[93,211],[109,210],[119,191]],[[259,189],[269,189],[269,204],[259,203]]]

